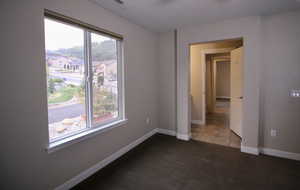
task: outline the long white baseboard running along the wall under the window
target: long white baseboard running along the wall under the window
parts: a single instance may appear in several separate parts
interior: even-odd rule
[[[105,158],[104,160],[98,162],[94,166],[88,168],[87,170],[81,172],[77,176],[75,176],[75,177],[71,178],[70,180],[66,181],[64,184],[56,187],[55,190],[67,190],[67,189],[71,189],[75,185],[79,184],[80,182],[82,182],[86,178],[90,177],[91,175],[93,175],[94,173],[96,173],[98,170],[100,170],[103,167],[105,167],[106,165],[110,164],[111,162],[113,162],[114,160],[116,160],[120,156],[124,155],[126,152],[128,152],[131,149],[133,149],[134,147],[136,147],[140,143],[144,142],[145,140],[147,140],[149,137],[153,136],[156,133],[157,133],[157,129],[153,129],[152,131],[150,131],[149,133],[145,134],[141,138],[139,138],[139,139],[135,140],[134,142],[130,143],[129,145],[121,148],[120,150],[118,150],[117,152],[113,153],[109,157]]]

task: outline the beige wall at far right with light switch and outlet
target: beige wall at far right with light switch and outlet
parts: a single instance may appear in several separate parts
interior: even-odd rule
[[[261,146],[300,153],[300,11],[263,17]],[[270,130],[277,130],[271,137]],[[299,156],[298,156],[299,158]]]

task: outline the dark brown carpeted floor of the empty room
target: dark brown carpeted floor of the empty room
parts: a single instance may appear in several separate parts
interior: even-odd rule
[[[74,189],[298,190],[300,162],[154,135]]]

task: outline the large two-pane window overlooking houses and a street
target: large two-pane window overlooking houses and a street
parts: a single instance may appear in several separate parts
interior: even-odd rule
[[[44,21],[50,143],[123,120],[121,39]]]

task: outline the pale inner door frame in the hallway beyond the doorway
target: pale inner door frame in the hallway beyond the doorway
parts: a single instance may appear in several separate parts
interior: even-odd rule
[[[217,53],[230,53],[235,48],[216,48],[216,49],[204,49],[201,50],[201,63],[202,64],[202,122],[206,124],[206,55]]]

